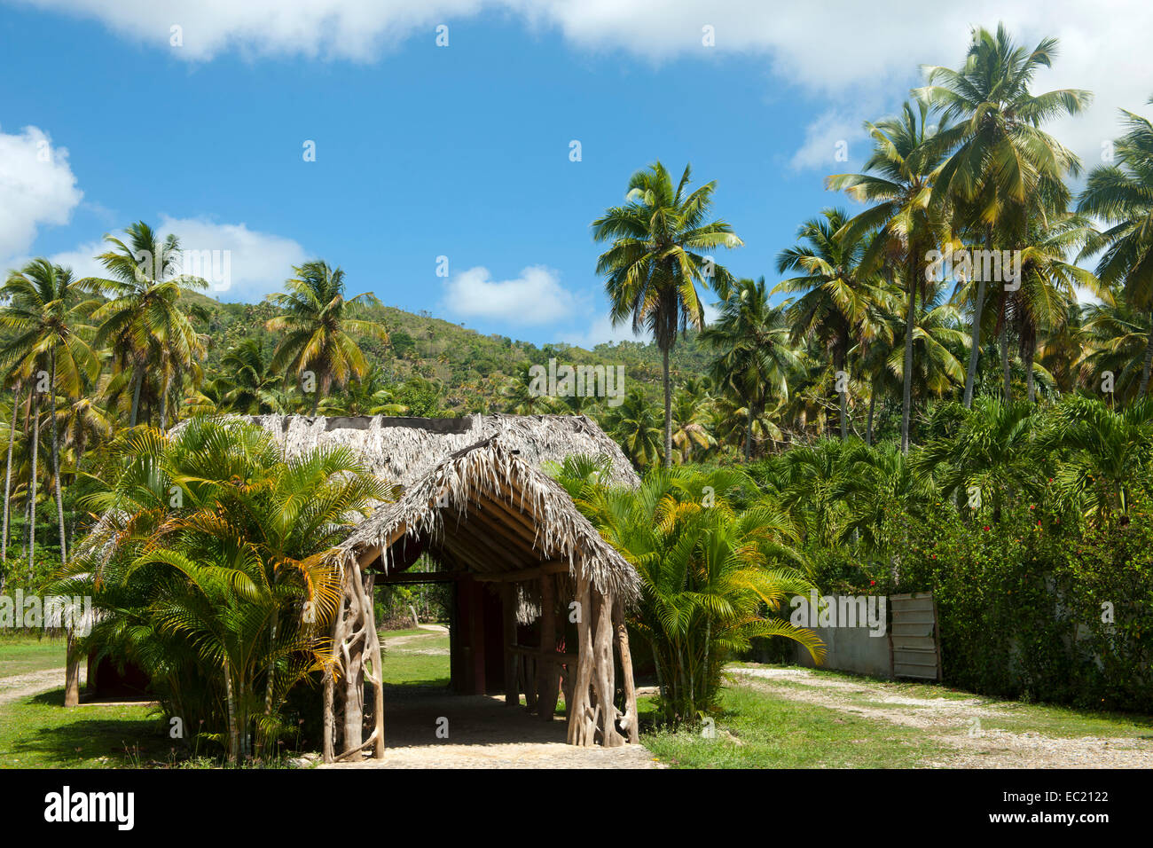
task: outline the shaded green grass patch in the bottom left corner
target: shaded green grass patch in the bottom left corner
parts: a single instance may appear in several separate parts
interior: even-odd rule
[[[153,706],[65,710],[63,691],[0,704],[0,768],[118,768],[172,759]]]

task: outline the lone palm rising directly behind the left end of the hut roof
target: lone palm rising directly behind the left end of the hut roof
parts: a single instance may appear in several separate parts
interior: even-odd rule
[[[353,336],[367,336],[387,344],[389,333],[371,321],[352,317],[361,303],[376,305],[372,294],[345,297],[345,272],[329,268],[322,260],[306,262],[294,268],[295,277],[285,287],[287,292],[270,294],[269,301],[284,310],[265,327],[286,335],[272,355],[272,370],[291,372],[303,377],[306,372],[316,376],[312,395],[312,414],[336,382],[344,387],[349,377],[363,377],[368,362]]]

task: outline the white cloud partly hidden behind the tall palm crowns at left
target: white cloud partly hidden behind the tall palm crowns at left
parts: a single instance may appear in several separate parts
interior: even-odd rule
[[[210,252],[206,256],[213,264],[203,265],[199,273],[211,284],[204,293],[225,301],[250,302],[280,291],[292,275],[292,267],[307,258],[304,248],[292,239],[249,230],[244,224],[217,224],[208,218],[160,215],[155,230],[161,235],[175,233],[180,239],[188,264],[183,269],[186,272],[196,271],[191,267],[193,252]],[[71,268],[75,277],[104,277],[107,271],[96,256],[107,249],[108,245],[104,241],[89,241],[48,258]]]

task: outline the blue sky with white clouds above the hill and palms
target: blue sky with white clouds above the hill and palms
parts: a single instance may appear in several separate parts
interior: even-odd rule
[[[940,37],[897,55],[886,39],[899,47],[900,31],[862,45],[864,22],[837,3],[770,16],[624,0],[232,6],[244,9],[0,0],[5,268],[50,255],[95,272],[100,237],[143,218],[186,247],[231,250],[221,300],[259,299],[319,256],[352,293],[485,333],[625,338],[605,317],[588,225],[634,170],[692,163],[696,181],[717,180],[715,211],[745,241],[718,258],[775,282],[800,220],[847,204],[822,180],[861,164],[861,120],[899,105],[918,61],[954,65],[967,39],[962,18],[917,17],[914,5],[905,25]],[[645,7],[665,7],[656,31]],[[1012,7],[975,21],[1007,17],[1023,40],[1061,35]],[[1118,82],[1131,69],[1109,67],[1099,39],[1068,38],[1071,67],[1053,84],[1105,89],[1062,136],[1087,158],[1115,134],[1117,105],[1141,111],[1153,75]],[[1088,78],[1067,81],[1073,72]],[[847,163],[835,160],[841,140]],[[45,145],[48,162],[31,156]]]

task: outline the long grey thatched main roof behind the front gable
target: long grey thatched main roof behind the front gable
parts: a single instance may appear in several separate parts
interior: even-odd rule
[[[344,444],[374,474],[405,487],[453,453],[495,436],[534,468],[576,453],[606,456],[612,468],[606,482],[630,488],[640,483],[617,443],[586,415],[251,415],[247,420],[272,433],[289,457],[323,444]]]

